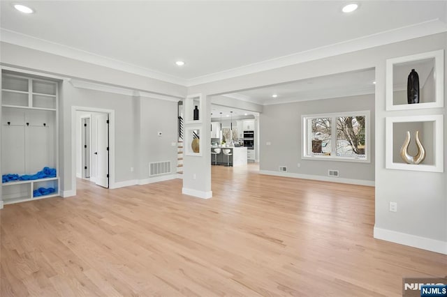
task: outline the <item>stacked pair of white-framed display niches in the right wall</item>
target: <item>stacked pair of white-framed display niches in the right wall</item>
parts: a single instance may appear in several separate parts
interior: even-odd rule
[[[412,69],[419,76],[419,102],[408,104],[406,82]],[[444,172],[444,50],[388,59],[386,75],[386,109],[393,112],[386,117],[386,168]],[[407,164],[400,156],[407,131],[411,155],[417,153],[414,138],[419,132],[426,151],[420,164]]]

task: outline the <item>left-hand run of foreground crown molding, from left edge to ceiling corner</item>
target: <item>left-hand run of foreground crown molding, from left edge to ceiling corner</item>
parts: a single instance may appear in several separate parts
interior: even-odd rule
[[[186,79],[181,77],[175,77],[165,73],[159,73],[154,70],[136,66],[123,61],[108,58],[98,54],[93,54],[84,50],[78,50],[74,47],[68,47],[59,43],[53,43],[52,41],[43,40],[26,34],[18,33],[8,29],[0,29],[1,41],[5,43],[11,43],[13,45],[19,45],[21,47],[29,47],[33,50],[39,50],[41,52],[49,52],[50,54],[56,54],[58,56],[64,56],[66,58],[75,59],[79,61],[85,61],[87,63],[95,64],[98,66],[104,66],[116,70],[122,70],[126,73],[132,73],[135,75],[142,75],[153,79],[159,79],[163,82],[170,82],[173,84],[186,85]]]

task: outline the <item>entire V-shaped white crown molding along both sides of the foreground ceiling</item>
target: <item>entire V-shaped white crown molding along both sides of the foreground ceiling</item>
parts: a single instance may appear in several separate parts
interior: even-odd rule
[[[381,45],[387,45],[390,43],[398,43],[404,40],[412,38],[420,38],[423,36],[429,36],[436,33],[443,33],[447,31],[446,22],[442,22],[439,19],[429,20],[411,26],[404,26],[402,28],[393,29],[390,31],[384,31],[381,33],[375,33],[369,36],[356,38],[353,40],[347,40],[342,43],[335,43],[327,45],[325,47],[318,47],[305,52],[298,52],[288,56],[281,56],[276,59],[270,59],[259,63],[242,66],[239,68],[232,68],[221,71],[219,73],[212,73],[210,75],[204,75],[201,77],[195,77],[192,79],[183,79],[181,77],[175,77],[166,73],[159,73],[154,70],[135,66],[123,61],[117,61],[98,54],[92,54],[83,50],[78,50],[73,47],[61,45],[59,43],[53,43],[48,40],[35,38],[8,29],[0,29],[1,41],[5,43],[11,43],[13,45],[19,45],[22,47],[29,47],[34,50],[42,52],[49,52],[59,56],[65,56],[70,59],[76,59],[92,63],[98,66],[104,66],[112,69],[122,70],[127,73],[133,73],[135,75],[142,75],[144,77],[159,79],[164,82],[170,82],[173,84],[179,84],[181,86],[196,86],[199,84],[206,84],[209,82],[216,82],[222,79],[229,79],[232,77],[238,77],[242,75],[249,75],[258,73],[265,70],[271,70],[274,68],[281,68],[285,66],[291,66],[298,63],[304,63],[307,61],[314,61],[317,59],[327,58],[329,56],[337,56],[339,54],[347,54],[349,52],[356,52],[359,50],[366,50],[372,47]]]

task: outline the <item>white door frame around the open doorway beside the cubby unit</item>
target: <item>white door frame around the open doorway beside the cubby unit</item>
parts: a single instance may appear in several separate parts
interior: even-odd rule
[[[109,114],[109,189],[115,188],[115,110],[95,107],[71,107],[71,143],[76,143],[76,112],[102,112]],[[72,146],[72,147],[73,147]],[[71,150],[71,184],[76,195],[76,151]]]

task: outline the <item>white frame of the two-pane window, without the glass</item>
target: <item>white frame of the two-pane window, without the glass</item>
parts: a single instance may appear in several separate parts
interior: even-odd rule
[[[342,116],[365,116],[365,158],[358,157],[346,157],[337,156],[337,118]],[[371,130],[370,130],[370,116],[371,112],[369,110],[360,110],[353,112],[335,112],[327,114],[305,114],[301,116],[302,123],[302,153],[301,158],[304,160],[328,160],[328,161],[342,161],[342,162],[360,162],[360,163],[370,163],[371,162]],[[309,119],[317,118],[330,118],[331,119],[331,155],[313,155],[308,154],[307,151],[311,148],[312,151],[312,127],[307,125]]]

